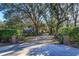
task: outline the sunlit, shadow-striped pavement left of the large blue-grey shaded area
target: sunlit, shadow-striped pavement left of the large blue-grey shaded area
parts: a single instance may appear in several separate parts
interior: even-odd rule
[[[46,44],[22,43],[0,47],[0,56],[26,56],[28,52]]]

